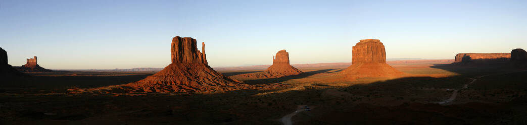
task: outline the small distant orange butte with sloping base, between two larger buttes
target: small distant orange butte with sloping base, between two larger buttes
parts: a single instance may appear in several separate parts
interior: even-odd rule
[[[301,73],[303,72],[289,64],[289,53],[287,53],[287,51],[284,49],[278,51],[276,56],[272,57],[272,65],[263,72],[243,74],[241,76],[256,78],[279,78],[284,76],[299,75]]]

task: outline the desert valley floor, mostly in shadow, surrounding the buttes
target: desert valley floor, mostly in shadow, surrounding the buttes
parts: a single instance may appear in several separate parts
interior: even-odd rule
[[[29,72],[0,84],[0,124],[527,124],[527,70],[388,61],[407,75],[340,80],[349,64],[295,66],[304,74],[250,78],[250,68],[216,70],[272,89],[200,93],[90,93],[152,71]],[[304,108],[309,107],[309,110]]]

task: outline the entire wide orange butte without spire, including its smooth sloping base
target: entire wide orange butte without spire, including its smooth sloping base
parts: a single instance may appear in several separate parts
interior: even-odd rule
[[[353,46],[352,54],[352,65],[341,71],[348,80],[363,77],[393,78],[405,74],[386,64],[386,50],[378,39],[360,40]]]

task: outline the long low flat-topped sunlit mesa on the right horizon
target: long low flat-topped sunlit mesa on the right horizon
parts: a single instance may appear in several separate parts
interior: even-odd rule
[[[454,64],[500,63],[509,61],[510,58],[510,53],[461,53],[456,55]]]

